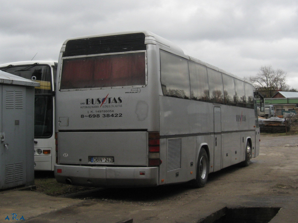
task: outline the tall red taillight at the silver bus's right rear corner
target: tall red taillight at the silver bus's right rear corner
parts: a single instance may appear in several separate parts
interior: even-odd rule
[[[148,133],[148,165],[150,167],[156,167],[161,164],[159,159],[159,132],[149,132]]]

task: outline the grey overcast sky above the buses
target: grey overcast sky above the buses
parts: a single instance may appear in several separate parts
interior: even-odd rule
[[[148,30],[240,77],[282,69],[298,89],[297,0],[10,0],[0,25],[0,64],[58,61],[71,37]]]

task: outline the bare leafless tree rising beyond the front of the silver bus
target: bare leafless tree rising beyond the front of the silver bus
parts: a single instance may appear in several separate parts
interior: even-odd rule
[[[289,85],[286,83],[286,72],[274,70],[271,65],[263,66],[256,76],[248,78],[261,91],[266,98],[271,98],[277,91],[286,91]]]

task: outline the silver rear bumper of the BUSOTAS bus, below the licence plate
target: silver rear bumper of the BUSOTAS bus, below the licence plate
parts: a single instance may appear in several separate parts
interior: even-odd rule
[[[61,169],[61,173],[57,172]],[[140,175],[140,172],[145,173]],[[159,167],[94,167],[55,165],[59,183],[90,187],[158,186]]]

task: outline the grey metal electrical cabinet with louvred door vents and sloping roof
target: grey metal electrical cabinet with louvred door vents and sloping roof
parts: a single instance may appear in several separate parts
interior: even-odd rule
[[[0,70],[0,189],[34,184],[34,87]]]

